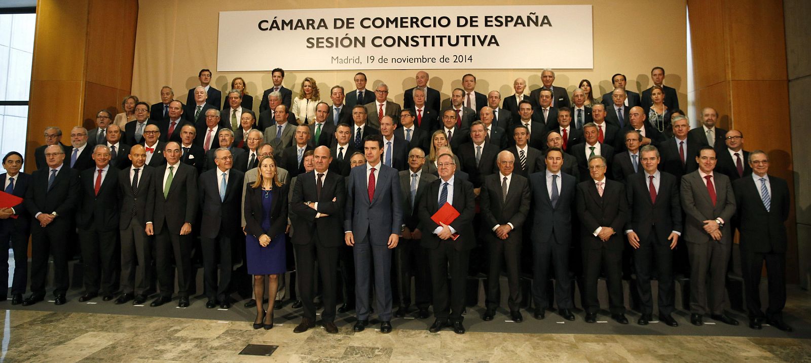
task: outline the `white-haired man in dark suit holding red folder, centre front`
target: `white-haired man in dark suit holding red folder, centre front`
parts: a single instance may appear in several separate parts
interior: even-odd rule
[[[465,309],[470,250],[476,246],[473,185],[454,175],[456,164],[450,154],[440,155],[437,164],[440,179],[431,182],[418,206],[419,220],[425,231],[420,243],[428,250],[436,316],[428,331],[436,333],[450,324],[455,333],[465,334],[465,326],[462,325],[464,317],[461,313]],[[450,224],[437,224],[431,216],[445,203],[456,209],[459,216]],[[449,287],[448,275],[451,284]]]

